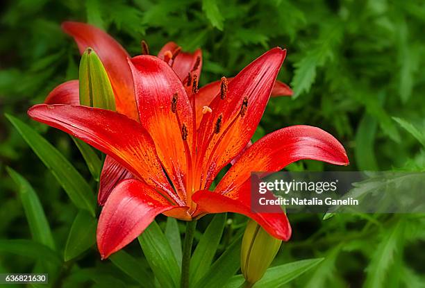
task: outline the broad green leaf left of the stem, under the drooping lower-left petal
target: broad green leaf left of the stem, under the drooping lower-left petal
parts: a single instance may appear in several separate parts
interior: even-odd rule
[[[138,239],[144,256],[161,287],[178,287],[180,285],[180,268],[158,223],[153,221]]]

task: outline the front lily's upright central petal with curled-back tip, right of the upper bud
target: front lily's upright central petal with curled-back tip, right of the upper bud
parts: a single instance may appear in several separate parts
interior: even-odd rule
[[[178,192],[183,195],[184,182],[188,180],[185,144],[192,149],[194,134],[188,95],[174,71],[163,60],[155,56],[138,56],[131,60],[130,66],[140,123],[153,138],[158,156],[174,187],[178,187]],[[174,113],[172,99],[176,93],[178,100]],[[186,141],[182,139],[183,124],[188,131]]]

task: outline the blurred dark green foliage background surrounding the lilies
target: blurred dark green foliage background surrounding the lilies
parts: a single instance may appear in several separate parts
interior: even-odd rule
[[[289,169],[425,170],[424,1],[15,0],[0,5],[0,272],[40,271],[44,260],[31,242],[22,250],[5,240],[31,239],[19,185],[6,167],[31,183],[59,254],[77,213],[5,113],[38,130],[89,181],[92,193],[97,189],[72,139],[26,117],[28,107],[41,103],[53,87],[78,77],[78,49],[60,29],[65,20],[103,28],[132,56],[141,53],[142,39],[153,54],[168,41],[187,51],[201,47],[201,85],[234,76],[267,49],[285,47],[278,78],[290,84],[294,96],[269,101],[254,140],[284,126],[308,124],[340,139],[351,163],[341,168],[306,161]],[[325,260],[288,287],[425,287],[424,215],[322,217],[290,215],[293,236],[274,264]],[[199,231],[210,219],[200,221]],[[228,219],[220,249],[245,221]],[[158,220],[163,227],[163,218]],[[179,226],[183,230],[183,223]],[[138,244],[126,251],[146,267]],[[56,287],[137,286],[109,260],[102,262],[95,245],[55,273]]]

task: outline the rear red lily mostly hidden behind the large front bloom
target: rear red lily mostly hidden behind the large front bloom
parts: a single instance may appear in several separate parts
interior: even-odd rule
[[[78,44],[81,53],[88,47],[92,47],[97,52],[108,73],[117,105],[117,112],[122,113],[131,119],[139,121],[138,108],[136,107],[133,76],[128,67],[127,58],[130,56],[126,50],[107,33],[101,29],[78,22],[64,22],[62,25],[65,33],[72,35]],[[192,86],[188,84],[188,76],[191,78],[201,74],[202,52],[197,49],[194,53],[186,53],[174,42],[168,42],[158,53],[158,58],[165,60],[176,72],[182,81],[185,90],[190,94]],[[228,79],[230,81],[230,78]],[[197,94],[196,112],[197,127],[201,123],[203,107],[210,105],[220,90],[220,81],[205,85],[199,89]],[[272,96],[290,96],[292,90],[281,81],[276,81],[272,90]],[[46,104],[71,104],[78,105],[78,81],[67,81],[56,87],[44,101]],[[98,202],[103,205],[110,192],[119,181],[132,178],[132,174],[113,158],[107,156],[101,171],[99,183]]]

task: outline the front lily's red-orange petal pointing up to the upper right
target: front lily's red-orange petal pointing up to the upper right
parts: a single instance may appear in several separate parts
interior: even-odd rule
[[[235,158],[251,139],[263,116],[265,105],[283,59],[285,50],[278,47],[254,60],[228,83],[226,99],[216,96],[210,105],[212,113],[204,115],[200,130],[199,146],[208,146],[205,157],[201,159],[205,172],[203,178],[209,187],[218,171]],[[240,117],[244,97],[248,97],[247,112]],[[219,133],[215,131],[217,119],[222,116]]]

